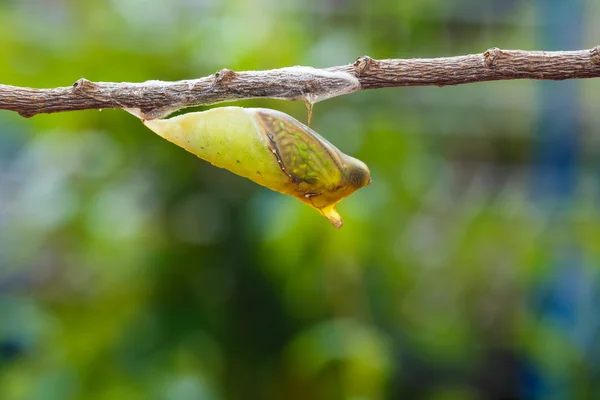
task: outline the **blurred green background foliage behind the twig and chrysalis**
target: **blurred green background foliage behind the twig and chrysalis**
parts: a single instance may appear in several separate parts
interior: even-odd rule
[[[0,0],[0,82],[589,48],[598,17],[593,0]],[[373,176],[339,231],[121,110],[0,112],[0,399],[600,398],[599,93],[317,104],[312,127]]]

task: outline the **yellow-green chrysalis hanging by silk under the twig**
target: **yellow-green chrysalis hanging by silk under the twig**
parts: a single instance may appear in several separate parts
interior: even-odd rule
[[[144,124],[217,167],[314,207],[336,228],[336,204],[371,183],[362,161],[279,111],[220,107]]]

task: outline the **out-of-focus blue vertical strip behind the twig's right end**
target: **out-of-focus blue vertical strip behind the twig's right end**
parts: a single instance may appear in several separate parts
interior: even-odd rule
[[[542,23],[539,47],[544,50],[582,47],[585,12],[582,0],[538,0],[537,6]],[[533,193],[539,208],[547,213],[548,228],[565,238],[575,236],[563,216],[572,207],[570,202],[578,185],[581,84],[580,81],[538,83],[540,109]],[[539,283],[532,302],[532,313],[545,326],[539,331],[537,341],[545,365],[536,367],[534,362],[523,374],[524,393],[532,399],[579,398],[585,389],[582,393],[578,388],[572,365],[574,359],[583,359],[584,367],[590,368],[587,373],[592,375],[591,367],[597,364],[588,354],[594,353],[594,340],[590,338],[598,333],[598,312],[588,311],[597,308],[593,299],[600,288],[576,241],[562,240],[549,251],[553,252],[552,272]],[[544,343],[548,337],[558,340],[560,348]],[[562,367],[557,368],[557,364]]]

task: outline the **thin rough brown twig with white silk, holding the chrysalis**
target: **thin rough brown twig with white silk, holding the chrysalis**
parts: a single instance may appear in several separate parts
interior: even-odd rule
[[[600,46],[577,51],[523,51],[492,48],[483,54],[429,59],[374,60],[316,69],[289,67],[267,71],[222,69],[200,79],[143,83],[91,82],[32,89],[0,84],[0,110],[23,117],[85,109],[122,108],[142,119],[182,108],[225,101],[276,98],[314,104],[358,90],[397,86],[447,86],[511,79],[600,77]]]

